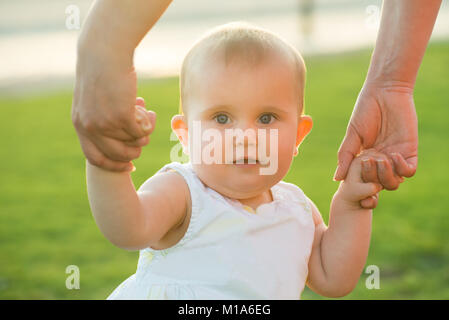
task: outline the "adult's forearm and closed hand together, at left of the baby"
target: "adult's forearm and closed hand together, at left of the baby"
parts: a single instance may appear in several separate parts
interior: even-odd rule
[[[78,39],[72,122],[87,160],[112,171],[133,168],[156,114],[138,120],[134,51],[171,0],[96,0]],[[148,126],[146,127],[145,124]]]

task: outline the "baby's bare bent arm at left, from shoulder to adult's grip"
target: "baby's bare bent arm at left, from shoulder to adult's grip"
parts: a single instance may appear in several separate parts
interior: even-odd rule
[[[93,216],[114,245],[127,250],[157,247],[184,221],[190,193],[178,173],[157,174],[136,191],[129,172],[103,170],[88,161],[86,165]]]

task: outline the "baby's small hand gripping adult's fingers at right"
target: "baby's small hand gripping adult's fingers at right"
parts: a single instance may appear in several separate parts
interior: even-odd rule
[[[384,161],[389,161],[387,156],[374,149],[364,150],[351,163],[346,179],[340,183],[339,196],[353,205],[361,207],[360,201],[369,197],[374,198],[374,208],[377,206],[378,193],[383,189],[380,183],[364,182],[362,170],[371,171],[374,166],[380,166]],[[377,171],[377,168],[376,170]],[[376,180],[375,180],[376,181]]]

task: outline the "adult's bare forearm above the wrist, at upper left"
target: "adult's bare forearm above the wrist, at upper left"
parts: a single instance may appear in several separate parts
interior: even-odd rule
[[[172,0],[97,0],[78,40],[78,62],[132,66],[134,50]]]

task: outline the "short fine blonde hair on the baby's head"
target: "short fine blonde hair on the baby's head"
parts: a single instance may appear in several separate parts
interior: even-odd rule
[[[231,22],[215,27],[192,45],[181,66],[179,114],[184,114],[183,103],[185,104],[190,91],[190,73],[193,73],[192,66],[196,62],[201,63],[205,58],[221,53],[226,66],[235,58],[250,66],[256,66],[272,52],[287,53],[287,56],[293,60],[298,80],[299,108],[301,114],[304,114],[306,67],[301,54],[278,35],[247,22]]]

